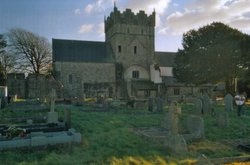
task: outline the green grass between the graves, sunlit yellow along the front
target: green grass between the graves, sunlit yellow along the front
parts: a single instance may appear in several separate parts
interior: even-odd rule
[[[135,133],[138,128],[162,127],[163,113],[149,113],[143,109],[120,109],[109,112],[84,112],[81,106],[57,105],[56,111],[71,110],[72,127],[82,134],[82,143],[31,150],[0,153],[0,164],[192,164],[202,154],[208,158],[243,156],[227,142],[250,138],[250,108],[245,116],[229,113],[229,126],[216,126],[214,116],[204,117],[205,139],[188,144],[189,153],[176,155],[162,143]],[[216,107],[216,111],[222,110]],[[182,114],[192,113],[192,105],[182,105]],[[3,115],[3,110],[1,115]]]

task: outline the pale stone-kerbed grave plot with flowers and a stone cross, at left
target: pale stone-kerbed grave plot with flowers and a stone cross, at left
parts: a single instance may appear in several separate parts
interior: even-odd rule
[[[15,114],[19,112],[36,114],[42,112],[43,119],[46,122],[38,123],[35,118],[29,116],[28,118],[21,117],[22,120],[26,120],[26,123],[20,122],[15,124],[4,124],[0,126],[0,150],[9,150],[13,148],[30,148],[38,146],[57,145],[65,143],[80,143],[81,134],[77,133],[71,128],[71,116],[70,111],[64,111],[64,121],[58,121],[58,112],[55,112],[55,91],[51,91],[49,99],[49,111],[39,110],[12,110],[11,113]],[[25,103],[22,103],[25,104]],[[29,104],[28,104],[29,105]],[[29,105],[30,106],[30,105]],[[40,106],[38,103],[35,107]],[[25,106],[24,106],[25,107]],[[5,112],[11,111],[9,109]],[[22,107],[23,108],[23,107]],[[18,116],[15,116],[18,118]],[[35,121],[35,123],[34,123]]]

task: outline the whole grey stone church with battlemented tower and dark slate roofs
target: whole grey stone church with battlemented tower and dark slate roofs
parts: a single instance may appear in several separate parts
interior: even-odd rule
[[[200,90],[176,83],[176,53],[155,51],[155,11],[134,14],[114,6],[105,18],[104,42],[52,39],[52,50],[55,79],[65,98],[179,97]]]

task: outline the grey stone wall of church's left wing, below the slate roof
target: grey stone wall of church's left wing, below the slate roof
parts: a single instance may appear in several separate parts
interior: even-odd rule
[[[63,85],[65,98],[84,97],[86,86],[90,90],[112,89],[110,92],[115,93],[114,63],[55,62],[54,70],[56,79]]]

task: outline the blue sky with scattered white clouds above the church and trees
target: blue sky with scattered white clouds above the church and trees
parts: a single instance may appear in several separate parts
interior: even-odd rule
[[[156,12],[155,50],[176,52],[191,29],[222,22],[250,34],[250,0],[0,0],[0,34],[22,28],[45,37],[104,41],[104,18]]]

